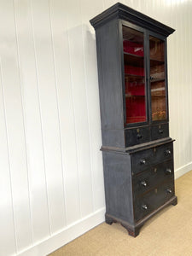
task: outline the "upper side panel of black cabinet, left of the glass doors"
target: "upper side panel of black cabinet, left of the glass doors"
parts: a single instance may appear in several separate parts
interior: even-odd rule
[[[119,20],[111,20],[96,29],[96,52],[102,129],[123,129]]]

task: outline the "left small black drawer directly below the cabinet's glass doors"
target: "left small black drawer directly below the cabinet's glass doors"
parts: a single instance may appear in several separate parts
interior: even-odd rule
[[[138,127],[125,130],[125,147],[131,147],[150,140],[149,127]]]

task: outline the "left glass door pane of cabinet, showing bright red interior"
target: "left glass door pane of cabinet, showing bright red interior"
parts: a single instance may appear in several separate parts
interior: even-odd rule
[[[143,44],[143,32],[123,26],[126,124],[147,119]]]

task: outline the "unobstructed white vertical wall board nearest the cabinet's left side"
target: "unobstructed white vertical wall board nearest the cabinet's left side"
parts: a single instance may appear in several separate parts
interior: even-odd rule
[[[83,35],[79,0],[68,1],[67,30],[69,37],[72,74],[74,117],[78,152],[80,211],[84,217],[93,211],[93,195],[90,166],[90,143],[85,94]],[[77,26],[78,25],[78,26]]]

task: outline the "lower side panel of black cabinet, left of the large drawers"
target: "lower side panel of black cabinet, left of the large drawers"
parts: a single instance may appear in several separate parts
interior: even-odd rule
[[[133,224],[131,157],[103,152],[106,213]]]

